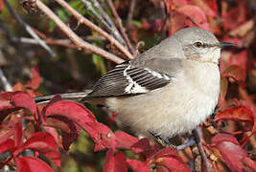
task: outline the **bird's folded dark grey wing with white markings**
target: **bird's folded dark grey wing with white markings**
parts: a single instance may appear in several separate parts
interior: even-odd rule
[[[172,81],[175,70],[170,64],[174,66],[176,60],[180,59],[126,61],[100,78],[87,98],[132,96],[161,88]]]

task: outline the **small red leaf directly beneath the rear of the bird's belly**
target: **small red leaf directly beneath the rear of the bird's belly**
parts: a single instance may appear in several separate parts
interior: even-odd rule
[[[117,143],[117,148],[120,149],[130,149],[130,147],[137,142],[138,140],[130,135],[128,135],[125,132],[116,132],[115,133],[116,137],[116,143]]]

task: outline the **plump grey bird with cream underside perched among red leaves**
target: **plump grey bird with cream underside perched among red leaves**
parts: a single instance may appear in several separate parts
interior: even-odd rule
[[[81,101],[105,105],[138,134],[184,134],[214,112],[221,48],[230,45],[203,29],[180,30],[117,65]]]

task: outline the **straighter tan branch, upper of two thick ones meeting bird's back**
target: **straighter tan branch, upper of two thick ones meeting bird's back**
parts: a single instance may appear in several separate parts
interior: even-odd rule
[[[133,56],[128,52],[128,50],[120,44],[114,37],[109,35],[107,32],[103,31],[101,28],[93,24],[91,21],[83,17],[78,11],[75,11],[72,7],[70,7],[65,1],[63,0],[56,0],[60,6],[62,6],[64,9],[69,11],[77,20],[79,23],[82,23],[89,27],[90,29],[94,30],[95,32],[99,32],[101,35],[103,35],[108,41],[110,41],[111,44],[114,44],[122,53],[126,54],[129,59],[132,59]]]

